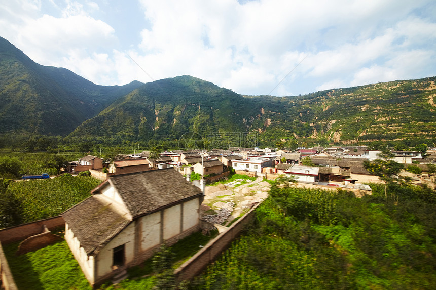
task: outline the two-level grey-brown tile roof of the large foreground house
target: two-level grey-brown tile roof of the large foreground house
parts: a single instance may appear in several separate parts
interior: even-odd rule
[[[202,195],[198,187],[172,168],[108,177],[91,191],[93,196],[62,214],[88,254],[97,254],[133,220],[99,196],[100,190],[110,185],[119,193],[133,219]]]

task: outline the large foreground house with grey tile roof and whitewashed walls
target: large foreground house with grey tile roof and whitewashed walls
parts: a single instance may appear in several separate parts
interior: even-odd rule
[[[174,169],[114,175],[62,214],[65,240],[90,284],[199,230],[202,192]]]

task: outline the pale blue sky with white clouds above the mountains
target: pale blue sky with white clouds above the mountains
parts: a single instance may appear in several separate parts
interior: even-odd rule
[[[286,96],[436,76],[434,0],[0,0],[0,36],[99,85]]]

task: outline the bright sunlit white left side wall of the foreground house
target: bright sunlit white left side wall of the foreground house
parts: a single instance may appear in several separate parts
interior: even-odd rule
[[[65,240],[88,281],[94,283],[94,256],[88,257],[85,249],[80,246],[79,240],[74,236],[74,233],[68,227],[68,224],[65,224]]]

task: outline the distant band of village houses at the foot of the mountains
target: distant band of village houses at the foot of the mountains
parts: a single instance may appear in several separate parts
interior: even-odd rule
[[[357,189],[360,185],[380,182],[379,177],[369,173],[364,161],[373,161],[380,150],[368,150],[367,146],[299,147],[297,150],[273,148],[240,148],[228,150],[173,150],[161,152],[158,158],[150,158],[150,151],[118,155],[112,163],[87,155],[70,162],[67,171],[74,174],[89,170],[99,179],[116,174],[173,168],[183,176],[200,175],[206,183],[225,178],[232,168],[238,174],[263,176],[274,180],[280,174],[294,175],[299,183],[329,185]],[[403,171],[414,183],[432,184],[426,164],[436,162],[436,150],[428,150],[426,156],[418,151],[391,151],[395,162],[413,164],[422,174]],[[190,179],[191,181],[191,179]]]

